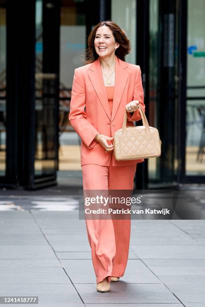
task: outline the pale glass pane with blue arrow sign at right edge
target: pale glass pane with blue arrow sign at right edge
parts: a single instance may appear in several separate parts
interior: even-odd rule
[[[188,1],[186,162],[188,176],[205,175],[205,2]]]

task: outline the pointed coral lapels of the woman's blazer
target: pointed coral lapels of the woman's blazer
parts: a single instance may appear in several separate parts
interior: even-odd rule
[[[110,120],[113,120],[117,113],[128,80],[129,72],[125,70],[126,67],[128,67],[127,63],[116,57],[115,89],[114,89],[114,98],[113,98],[112,117],[105,89],[104,79],[102,77],[99,58],[95,60],[89,67],[89,72],[88,72],[89,79],[99,98],[102,107],[104,108]]]

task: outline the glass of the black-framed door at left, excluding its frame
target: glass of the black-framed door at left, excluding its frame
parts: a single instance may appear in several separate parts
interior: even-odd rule
[[[35,62],[35,177],[52,175],[55,169],[55,74],[43,71],[43,2],[36,1]]]

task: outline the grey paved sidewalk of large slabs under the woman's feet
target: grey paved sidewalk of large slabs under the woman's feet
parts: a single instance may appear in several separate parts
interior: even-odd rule
[[[1,191],[0,296],[38,296],[41,307],[205,306],[204,220],[132,220],[126,272],[100,293],[77,194],[46,191]]]

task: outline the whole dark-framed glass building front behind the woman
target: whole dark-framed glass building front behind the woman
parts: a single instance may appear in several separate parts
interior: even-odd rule
[[[204,12],[203,0],[0,0],[1,184],[34,189],[55,184],[58,171],[80,185],[81,140],[68,120],[71,90],[100,20],[113,20],[128,36],[126,61],[141,67],[146,115],[162,140],[161,157],[137,169],[143,187],[202,182]],[[24,50],[14,50],[26,30]]]

